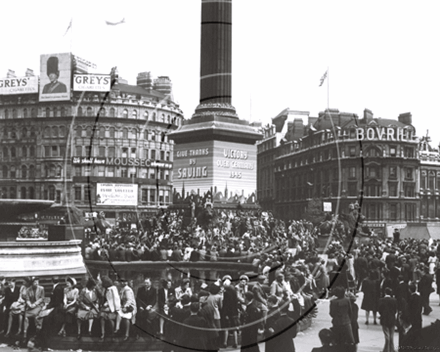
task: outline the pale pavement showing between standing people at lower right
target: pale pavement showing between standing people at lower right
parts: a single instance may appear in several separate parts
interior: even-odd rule
[[[359,292],[356,304],[361,307],[363,294]],[[423,326],[429,326],[431,323],[440,319],[440,306],[439,306],[439,296],[436,293],[432,293],[430,296],[430,305],[433,309],[431,314],[426,316],[423,315]],[[294,339],[295,347],[297,352],[310,352],[314,347],[320,347],[321,342],[318,337],[318,333],[321,329],[331,327],[331,318],[329,315],[330,302],[329,300],[318,301],[318,314],[315,319],[313,319],[310,328],[303,332],[299,332],[298,336]],[[365,324],[365,311],[359,309],[359,345],[357,352],[379,352],[382,351],[384,345],[384,335],[382,332],[382,327],[380,325],[374,325],[372,316],[370,314],[369,325]],[[378,319],[379,323],[379,319]],[[397,350],[398,348],[398,334],[394,334],[394,346]],[[260,344],[260,352],[265,352],[264,343]],[[439,347],[440,348],[440,347]],[[10,352],[10,351],[20,351],[20,349],[13,349],[9,346],[0,345],[0,352]],[[27,349],[22,348],[21,351],[27,351]],[[72,351],[72,350],[71,350]],[[220,352],[239,352],[240,349],[221,349]],[[61,350],[55,350],[55,352],[67,352]],[[78,350],[78,352],[86,352]],[[126,351],[129,352],[129,351]],[[282,352],[282,351],[280,351]]]

